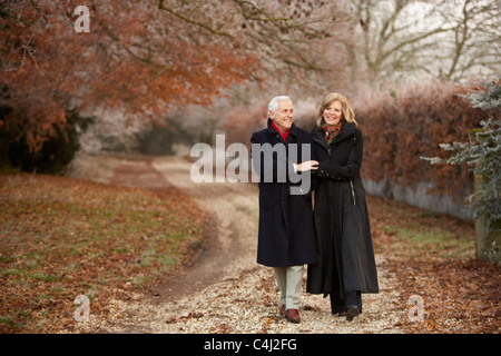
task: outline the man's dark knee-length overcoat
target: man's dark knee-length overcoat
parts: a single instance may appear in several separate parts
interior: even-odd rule
[[[307,189],[308,187],[304,189],[304,194],[291,195],[291,187],[294,182],[289,179],[293,174],[293,170],[289,170],[293,169],[291,166],[293,162],[298,164],[312,158],[302,157],[303,145],[307,145],[312,152],[311,134],[293,125],[286,142],[284,142],[268,120],[268,128],[255,132],[250,142],[253,144],[254,168],[261,176],[257,263],[268,267],[289,267],[314,263],[315,233],[311,186],[310,189]],[[271,162],[273,179],[269,182],[264,179],[264,159],[261,157],[257,160],[256,156],[259,154],[254,147],[254,145],[266,144],[269,144],[271,147],[284,146],[287,154],[287,157],[273,156],[273,162]],[[295,148],[297,148],[297,157],[289,155],[289,150]],[[281,172],[287,172],[287,177],[283,177],[283,175],[281,177]],[[293,180],[296,181],[295,178]]]

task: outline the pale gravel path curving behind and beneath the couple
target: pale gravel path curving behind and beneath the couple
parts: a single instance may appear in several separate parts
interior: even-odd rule
[[[330,300],[303,293],[302,323],[291,324],[278,315],[279,296],[272,268],[255,263],[258,198],[253,184],[194,184],[191,164],[183,158],[151,160],[114,158],[111,170],[126,171],[139,165],[143,177],[125,185],[155,187],[163,184],[183,189],[212,215],[214,239],[209,248],[185,273],[154,296],[132,295],[130,300],[112,300],[110,315],[90,316],[78,325],[81,333],[400,333],[394,327],[406,310],[397,307],[395,277],[376,255],[380,294],[363,295],[363,314],[353,322],[331,314]],[[97,178],[110,180],[112,174]],[[164,179],[164,182],[161,182]]]

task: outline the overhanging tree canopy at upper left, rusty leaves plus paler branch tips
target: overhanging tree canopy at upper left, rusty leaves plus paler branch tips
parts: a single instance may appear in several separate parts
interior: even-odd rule
[[[69,109],[163,122],[235,83],[333,63],[306,51],[333,34],[327,1],[90,0],[89,32],[75,28],[80,4],[0,4],[0,129],[19,129],[32,152],[63,130]]]

